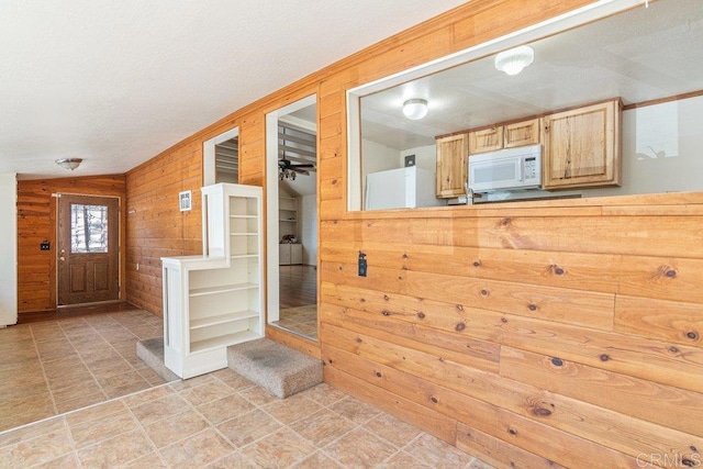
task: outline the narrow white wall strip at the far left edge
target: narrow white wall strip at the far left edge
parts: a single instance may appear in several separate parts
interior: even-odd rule
[[[16,194],[16,175],[0,174],[0,326],[18,322]]]

